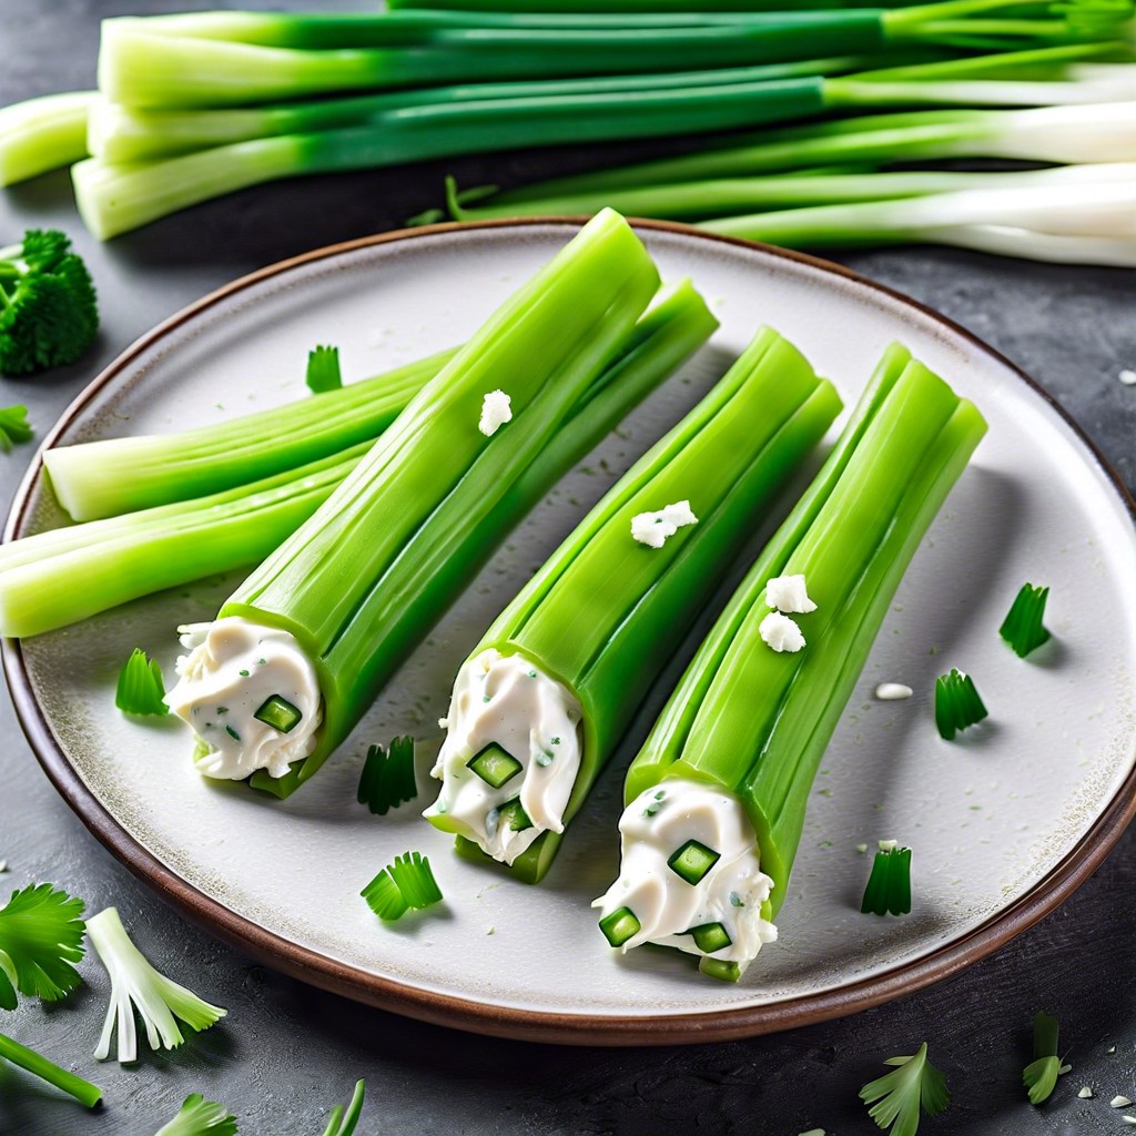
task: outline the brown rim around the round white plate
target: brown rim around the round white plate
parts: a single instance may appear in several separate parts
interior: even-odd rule
[[[636,228],[675,233],[700,241],[719,242],[757,249],[767,256],[807,265],[821,273],[849,281],[861,289],[899,301],[920,315],[947,328],[984,351],[1039,395],[1063,419],[1078,440],[1087,448],[1110,482],[1129,517],[1136,524],[1136,502],[1116,470],[1101,454],[1097,446],[1077,425],[1072,417],[1021,368],[995,351],[974,333],[959,326],[926,304],[894,289],[879,284],[842,265],[836,265],[805,253],[779,249],[753,241],[719,236],[688,225],[630,218]],[[582,217],[534,217],[475,223],[445,223],[420,228],[396,229],[344,241],[290,257],[242,276],[202,299],[183,308],[158,324],[128,346],[99,374],[60,416],[47,435],[25,475],[5,526],[3,540],[10,541],[18,529],[32,493],[43,477],[43,451],[51,448],[61,432],[74,420],[86,403],[123,371],[142,352],[164,336],[197,317],[210,307],[227,300],[273,276],[287,273],[302,265],[341,256],[359,249],[417,240],[438,233],[468,229],[509,229],[518,227],[548,227],[562,225],[578,227]],[[636,1018],[624,1014],[566,1014],[512,1006],[498,1006],[454,995],[425,991],[403,983],[366,974],[353,967],[328,959],[316,951],[300,946],[282,936],[265,930],[257,924],[236,914],[223,903],[191,886],[172,871],[153,853],[127,833],[102,805],[78,774],[70,766],[57,743],[32,690],[24,654],[18,641],[0,643],[5,675],[11,691],[16,716],[40,765],[59,794],[70,805],[91,833],[143,883],[172,904],[182,914],[225,942],[276,970],[293,978],[341,994],[353,1001],[394,1013],[404,1014],[434,1025],[450,1026],[477,1034],[509,1037],[528,1042],[570,1045],[673,1045],[691,1042],[722,1042],[759,1034],[774,1033],[797,1026],[826,1021],[830,1018],[855,1013],[904,994],[913,993],[933,983],[951,977],[959,970],[985,958],[1010,939],[1027,930],[1072,894],[1100,867],[1101,862],[1136,816],[1136,767],[1117,790],[1089,830],[1077,845],[1042,880],[1010,907],[996,912],[979,927],[943,947],[849,986],[804,995],[785,1002],[766,1005],[741,1006],[735,1010],[701,1011]]]

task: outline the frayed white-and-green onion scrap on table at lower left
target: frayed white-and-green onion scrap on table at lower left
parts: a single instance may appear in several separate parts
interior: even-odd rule
[[[94,1050],[95,1060],[105,1061],[109,1056],[116,1024],[119,1064],[137,1060],[135,1010],[145,1026],[152,1050],[159,1046],[173,1050],[185,1041],[178,1021],[200,1031],[225,1017],[226,1011],[220,1006],[210,1005],[156,970],[131,942],[115,908],[92,916],[86,922],[86,934],[110,975],[110,1004]]]

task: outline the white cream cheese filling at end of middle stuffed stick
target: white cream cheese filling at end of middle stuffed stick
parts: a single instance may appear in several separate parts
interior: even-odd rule
[[[442,792],[423,816],[508,864],[541,833],[562,833],[579,771],[580,715],[571,692],[524,655],[482,651],[454,680],[448,732],[432,771]],[[499,788],[469,768],[488,745],[521,767]],[[532,821],[519,830],[501,813],[518,797]]]

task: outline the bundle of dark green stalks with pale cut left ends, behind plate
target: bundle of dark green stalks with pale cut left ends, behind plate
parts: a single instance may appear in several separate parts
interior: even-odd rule
[[[92,157],[74,168],[76,197],[106,239],[301,174],[702,136],[862,108],[1064,101],[1084,85],[1064,65],[1130,57],[1127,5],[119,17],[103,24]],[[976,62],[974,52],[986,55]],[[1043,74],[1016,81],[1026,65]],[[70,160],[67,124],[85,106],[60,103],[55,125],[47,108],[16,114],[22,125],[7,135],[0,118],[0,178],[43,168],[51,153]],[[34,149],[28,120],[57,140],[31,165],[20,157]]]

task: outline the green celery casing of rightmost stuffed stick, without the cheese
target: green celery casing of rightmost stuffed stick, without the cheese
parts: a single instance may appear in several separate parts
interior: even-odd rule
[[[670,777],[736,796],[785,899],[818,762],[939,506],[985,433],[975,407],[888,349],[817,479],[718,619],[632,762],[629,803]],[[796,653],[766,646],[766,582],[803,574]],[[710,960],[712,963],[713,960]]]

